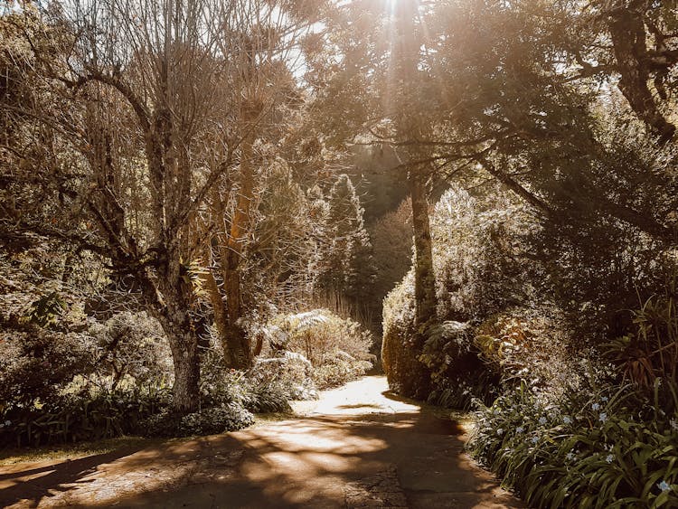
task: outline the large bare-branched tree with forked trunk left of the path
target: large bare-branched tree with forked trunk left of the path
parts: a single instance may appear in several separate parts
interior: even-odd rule
[[[39,174],[38,187],[59,193],[71,218],[23,226],[78,242],[134,278],[169,340],[179,412],[197,408],[204,326],[190,220],[237,144],[219,127],[229,107],[220,94],[226,61],[213,50],[221,33],[208,23],[216,7],[111,0],[42,13],[29,6],[4,20],[32,53],[25,79],[43,90],[2,108],[52,149],[46,158],[13,154],[11,163]]]

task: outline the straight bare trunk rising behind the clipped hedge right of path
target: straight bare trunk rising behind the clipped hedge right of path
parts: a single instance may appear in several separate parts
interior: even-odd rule
[[[418,174],[410,172],[416,324],[424,325],[436,317],[436,279],[433,271],[433,247],[428,219],[428,200],[426,188],[420,182],[420,178]]]

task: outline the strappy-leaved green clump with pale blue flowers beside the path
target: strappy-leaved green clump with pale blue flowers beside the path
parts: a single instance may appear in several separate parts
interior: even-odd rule
[[[664,412],[661,385],[648,404],[631,386],[553,401],[523,382],[478,403],[469,448],[535,507],[677,507],[678,412]]]

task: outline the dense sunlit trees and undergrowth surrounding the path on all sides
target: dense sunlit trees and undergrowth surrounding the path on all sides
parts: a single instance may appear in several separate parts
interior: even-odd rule
[[[382,363],[531,504],[677,504],[673,1],[0,14],[0,442]]]

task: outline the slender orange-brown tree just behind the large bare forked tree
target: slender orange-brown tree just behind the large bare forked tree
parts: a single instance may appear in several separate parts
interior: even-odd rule
[[[211,269],[205,278],[214,321],[227,363],[236,368],[250,367],[261,347],[252,342],[245,323],[248,306],[260,300],[251,295],[257,286],[247,280],[248,256],[256,245],[258,203],[269,183],[267,173],[287,165],[286,136],[294,132],[304,107],[293,72],[304,38],[322,15],[322,4],[311,8],[303,2],[236,0],[218,16],[223,30],[218,46],[230,62],[231,128],[240,142],[233,171],[221,174],[212,188],[201,228],[211,239],[205,255]],[[313,179],[319,159],[311,150],[303,162],[297,160],[296,169]]]

